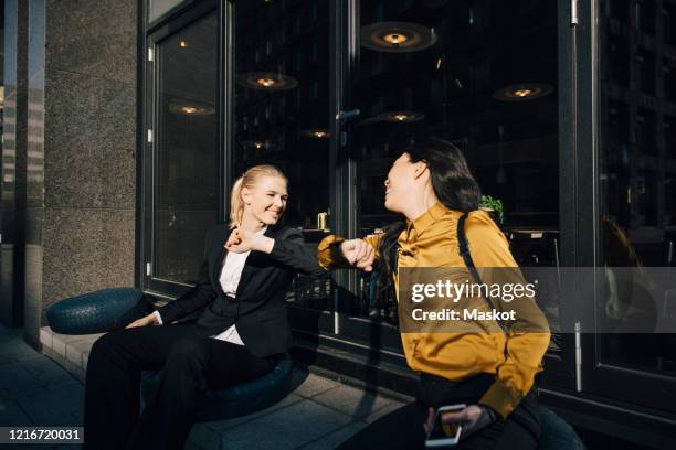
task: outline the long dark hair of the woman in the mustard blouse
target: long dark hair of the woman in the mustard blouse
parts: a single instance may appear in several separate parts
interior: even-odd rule
[[[427,164],[434,194],[450,210],[462,212],[478,207],[482,192],[478,183],[472,176],[463,152],[453,143],[443,139],[430,138],[420,143],[405,146],[402,153],[408,153],[411,162],[422,161]],[[397,239],[406,227],[405,221],[399,221],[385,228],[380,240],[380,276],[379,283],[385,287],[395,267]]]

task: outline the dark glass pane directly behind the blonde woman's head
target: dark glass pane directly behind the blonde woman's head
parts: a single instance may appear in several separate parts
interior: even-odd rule
[[[328,3],[245,1],[234,15],[233,175],[256,164],[281,168],[289,194],[284,219],[315,248],[328,232],[318,216],[329,213]],[[262,44],[267,51],[254,57]],[[289,301],[326,308],[327,280],[300,277]]]

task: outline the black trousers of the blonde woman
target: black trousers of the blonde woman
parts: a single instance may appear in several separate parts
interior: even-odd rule
[[[273,357],[199,338],[194,324],[116,330],[101,336],[87,362],[84,449],[182,449],[208,387],[265,375]],[[162,369],[139,416],[141,371]]]

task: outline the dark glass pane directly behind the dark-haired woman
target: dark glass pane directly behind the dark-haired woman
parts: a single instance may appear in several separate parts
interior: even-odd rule
[[[520,262],[556,265],[557,3],[359,4],[352,97],[360,110],[352,128],[359,234],[397,218],[383,206],[383,181],[398,149],[436,136],[454,141],[483,192],[503,201],[503,226],[518,235],[513,250]],[[392,293],[378,294],[371,281],[358,283],[352,314],[395,323]]]

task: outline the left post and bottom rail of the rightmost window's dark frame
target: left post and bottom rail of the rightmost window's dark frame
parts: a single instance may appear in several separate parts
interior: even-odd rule
[[[599,79],[600,45],[598,19],[602,14],[599,2],[580,2],[581,23],[575,29],[577,39],[577,101],[578,132],[573,158],[578,164],[574,202],[577,204],[577,239],[574,260],[577,267],[602,267],[602,242],[600,237],[601,192],[599,189],[600,117],[601,89]],[[592,193],[589,201],[587,193]],[[596,298],[587,302],[589,308],[583,317],[594,317],[594,304],[601,292],[601,280],[595,282]],[[589,326],[583,326],[589,329]],[[676,413],[676,377],[656,372],[638,371],[621,365],[609,364],[601,358],[601,338],[599,334],[581,335],[581,372],[578,390],[617,400],[627,411],[644,409],[645,415],[654,414],[655,426],[664,419],[657,417],[662,411]],[[627,388],[631,386],[631,388]],[[661,393],[655,395],[655,393]],[[676,425],[676,420],[672,422]]]

